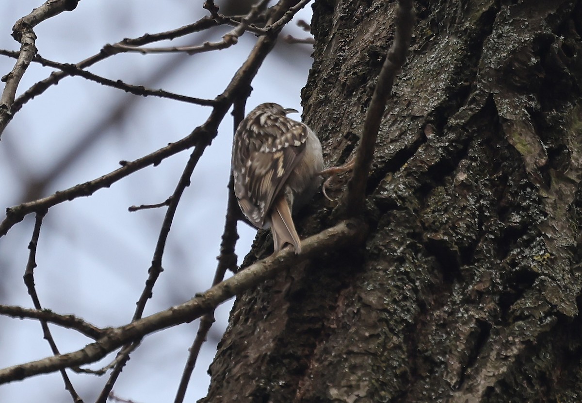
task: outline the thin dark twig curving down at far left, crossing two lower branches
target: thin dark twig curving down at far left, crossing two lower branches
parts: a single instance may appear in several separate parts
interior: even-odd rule
[[[42,306],[40,304],[40,300],[38,299],[38,295],[36,292],[36,287],[34,287],[34,268],[37,267],[36,263],[36,251],[38,246],[38,238],[40,236],[40,227],[42,226],[42,218],[47,211],[42,211],[41,213],[37,213],[36,221],[34,222],[34,229],[33,229],[33,236],[30,239],[29,243],[29,261],[26,264],[26,270],[24,271],[24,284],[26,284],[26,288],[29,292],[30,298],[33,300],[34,307],[37,310],[42,310]],[[42,334],[44,335],[44,339],[47,340],[48,345],[51,346],[52,353],[57,356],[61,353],[59,352],[58,347],[56,347],[56,343],[54,338],[52,338],[51,330],[48,328],[47,321],[40,319],[40,324],[42,327]],[[61,376],[63,378],[63,382],[65,383],[65,389],[69,391],[73,401],[75,403],[83,403],[83,400],[79,397],[77,392],[74,390],[73,384],[71,383],[69,376],[66,373],[64,368],[60,369]]]

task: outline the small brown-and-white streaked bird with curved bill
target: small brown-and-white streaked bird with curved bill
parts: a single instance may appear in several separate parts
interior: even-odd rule
[[[254,227],[271,228],[275,252],[287,243],[301,253],[292,212],[321,185],[321,143],[313,130],[289,118],[295,109],[260,104],[240,122],[232,145],[233,190]]]

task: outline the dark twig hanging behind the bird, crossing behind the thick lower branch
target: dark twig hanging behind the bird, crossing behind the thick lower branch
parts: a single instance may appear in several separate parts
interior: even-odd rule
[[[232,111],[234,132],[236,132],[236,128],[244,118],[244,105],[246,104],[247,97],[248,95],[240,97],[234,102],[235,105]],[[223,280],[226,270],[232,270],[233,272],[236,271],[237,257],[235,253],[235,246],[237,239],[239,239],[239,234],[236,231],[236,223],[238,221],[237,218],[240,215],[240,208],[236,201],[233,183],[234,179],[231,172],[228,182],[229,192],[228,203],[226,206],[224,231],[222,233],[220,254],[218,256],[218,266],[214,273],[214,279],[212,280],[213,287]],[[206,341],[206,337],[214,321],[214,309],[212,312],[205,313],[200,318],[200,325],[196,333],[196,338],[194,338],[194,341],[190,346],[190,353],[182,372],[182,378],[180,379],[180,384],[178,386],[178,391],[176,392],[174,403],[182,403],[184,401],[184,396],[186,396],[186,389],[188,387],[190,377],[192,376],[194,366],[196,365],[196,360],[200,354],[200,349],[202,348],[204,341]]]

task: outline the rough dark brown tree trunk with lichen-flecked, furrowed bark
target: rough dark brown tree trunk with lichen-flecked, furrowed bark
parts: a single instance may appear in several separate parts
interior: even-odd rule
[[[304,118],[329,165],[357,145],[395,8],[315,2]],[[364,248],[240,295],[202,401],[582,400],[582,1],[416,10]],[[332,208],[316,196],[302,237]]]

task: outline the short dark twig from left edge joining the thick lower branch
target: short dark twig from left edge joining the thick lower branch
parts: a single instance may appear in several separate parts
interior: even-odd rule
[[[73,329],[87,337],[97,340],[107,333],[108,328],[99,328],[74,315],[62,315],[49,309],[27,309],[22,306],[0,305],[0,315],[19,319],[37,319],[46,323]]]

